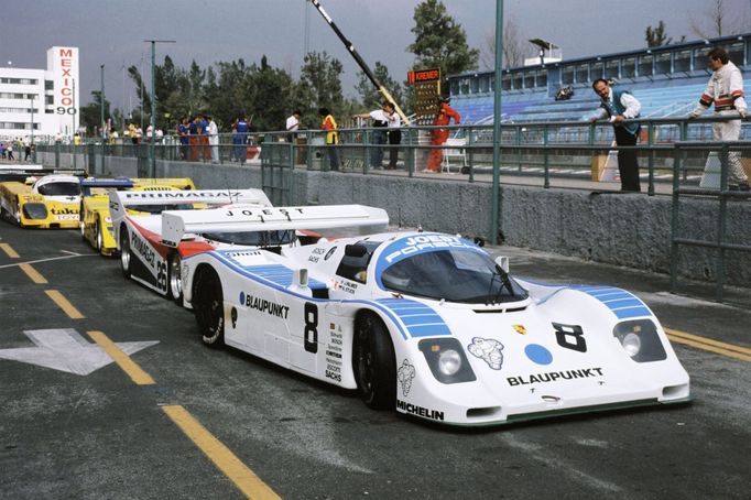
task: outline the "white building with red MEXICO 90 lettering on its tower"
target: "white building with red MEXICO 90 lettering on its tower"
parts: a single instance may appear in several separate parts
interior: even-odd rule
[[[46,69],[0,67],[0,139],[70,139],[79,127],[78,47],[47,50]]]

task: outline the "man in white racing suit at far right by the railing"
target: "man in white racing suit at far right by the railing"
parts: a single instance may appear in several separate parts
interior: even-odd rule
[[[728,57],[722,47],[715,47],[707,54],[709,68],[714,72],[707,88],[701,94],[696,109],[688,118],[697,118],[715,102],[715,116],[745,117],[745,99],[743,99],[743,76],[740,69]],[[737,141],[741,133],[741,120],[717,121],[712,123],[712,137],[716,141]],[[732,191],[749,191],[749,177],[743,172],[740,152],[728,153],[728,187]]]

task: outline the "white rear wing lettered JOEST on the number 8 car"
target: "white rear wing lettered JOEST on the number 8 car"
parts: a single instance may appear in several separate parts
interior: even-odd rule
[[[389,225],[382,208],[364,205],[225,207],[162,213],[162,242],[176,247],[185,233],[360,228],[380,232]]]

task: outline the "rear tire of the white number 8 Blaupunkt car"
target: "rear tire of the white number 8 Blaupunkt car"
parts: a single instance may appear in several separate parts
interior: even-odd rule
[[[208,347],[225,344],[225,301],[221,281],[210,268],[199,269],[194,281],[193,309],[200,339]]]

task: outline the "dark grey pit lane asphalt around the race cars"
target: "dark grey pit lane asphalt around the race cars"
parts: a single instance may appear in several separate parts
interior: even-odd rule
[[[0,243],[20,256],[0,251],[0,349],[30,347],[23,330],[43,328],[159,340],[132,355],[154,385],[135,385],[116,365],[81,377],[0,360],[0,498],[242,498],[164,404],[187,409],[282,498],[748,498],[748,361],[674,344],[692,376],[689,405],[439,427],[204,347],[192,313],[126,281],[119,262],[95,256],[77,231],[0,221]],[[510,256],[520,276],[622,286],[667,327],[751,347],[748,305],[667,294],[663,275],[491,250]],[[32,264],[48,284],[32,283],[14,265],[65,252],[84,257]],[[70,319],[45,295],[51,289],[85,318]]]

